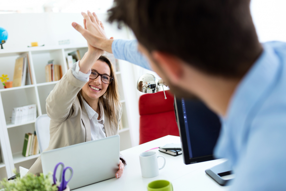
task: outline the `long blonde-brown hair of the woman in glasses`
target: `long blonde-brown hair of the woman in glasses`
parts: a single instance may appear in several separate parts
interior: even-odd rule
[[[100,56],[98,60],[105,62],[110,68],[110,76],[113,77],[112,82],[108,85],[106,92],[99,98],[101,101],[103,108],[107,112],[109,117],[109,123],[113,123],[115,127],[117,127],[118,120],[118,109],[120,106],[119,93],[118,93],[118,82],[115,74],[115,70],[113,64],[106,56]],[[80,101],[80,105],[82,106],[81,96],[82,90],[78,92],[78,100]]]

